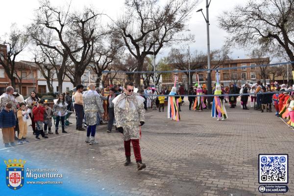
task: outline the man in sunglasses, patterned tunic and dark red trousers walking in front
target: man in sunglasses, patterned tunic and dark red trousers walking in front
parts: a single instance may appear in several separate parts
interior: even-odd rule
[[[124,151],[126,156],[125,166],[131,163],[131,143],[137,162],[137,169],[146,168],[142,163],[139,139],[141,126],[145,124],[145,98],[134,92],[134,83],[128,81],[124,84],[124,93],[112,100],[114,115],[118,131],[123,133]]]

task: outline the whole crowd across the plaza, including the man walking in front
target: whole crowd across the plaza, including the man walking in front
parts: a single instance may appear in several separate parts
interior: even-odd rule
[[[184,103],[183,86],[179,90],[172,87],[171,91],[162,89],[158,93],[157,89],[145,87],[138,92],[138,88],[132,82],[126,82],[124,88],[120,85],[107,86],[105,89],[96,88],[95,84],[90,84],[85,91],[83,85],[77,85],[73,96],[68,92],[58,95],[54,99],[53,107],[49,106],[47,100],[38,98],[35,92],[24,100],[24,97],[17,93],[13,87],[7,87],[6,92],[0,96],[0,128],[2,129],[3,143],[5,147],[15,147],[17,145],[29,143],[27,140],[28,119],[31,120],[31,127],[35,140],[47,139],[52,131],[52,119],[54,119],[55,134],[59,134],[59,124],[62,133],[67,133],[65,121],[68,114],[73,111],[76,115],[76,130],[86,131],[85,142],[96,145],[96,127],[100,123],[107,123],[106,132],[111,133],[113,126],[122,133],[124,140],[125,166],[130,164],[130,143],[132,143],[138,170],[146,167],[142,163],[140,154],[139,139],[141,138],[141,126],[145,123],[145,111],[148,109],[159,112],[165,109],[165,101],[168,100],[168,118],[179,121],[181,111],[180,106]],[[223,87],[217,84],[213,88],[212,117],[217,120],[227,118],[223,101],[229,102],[231,108],[237,106],[237,98],[241,96],[241,107],[248,110],[250,108],[261,112],[272,112],[275,115],[289,119],[288,124],[294,127],[294,95],[293,88],[285,84],[279,85],[277,82],[264,86],[257,81],[255,84],[244,84],[237,87],[231,84]],[[283,92],[285,91],[285,92]],[[207,109],[207,94],[205,84],[192,86],[188,95],[189,110],[202,111]],[[164,95],[171,95],[170,97]],[[194,97],[195,96],[195,97]],[[249,98],[250,97],[250,98]],[[249,99],[249,100],[248,100]],[[84,127],[83,127],[84,124]]]

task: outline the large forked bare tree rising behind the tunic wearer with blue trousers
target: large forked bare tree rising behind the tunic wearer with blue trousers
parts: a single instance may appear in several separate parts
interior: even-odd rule
[[[81,13],[69,10],[70,5],[63,9],[52,6],[49,0],[41,1],[36,24],[51,30],[59,47],[37,41],[40,45],[58,52],[62,56],[62,66],[66,64],[67,57],[71,59],[73,69],[66,74],[76,86],[81,83],[81,76],[91,63],[94,43],[99,36],[104,35],[104,31],[98,32],[97,28],[97,17],[101,14],[91,8],[85,8]]]

